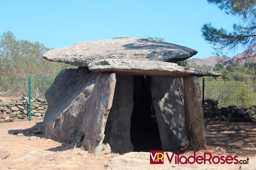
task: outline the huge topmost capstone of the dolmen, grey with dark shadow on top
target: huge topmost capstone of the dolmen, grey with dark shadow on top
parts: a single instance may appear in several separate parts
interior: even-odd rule
[[[49,61],[88,67],[89,63],[93,61],[109,58],[176,63],[186,60],[196,53],[196,50],[172,43],[122,37],[80,42],[69,47],[52,49],[45,52],[43,58]]]

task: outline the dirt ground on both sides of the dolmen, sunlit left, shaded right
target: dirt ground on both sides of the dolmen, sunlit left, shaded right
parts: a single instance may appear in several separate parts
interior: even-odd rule
[[[33,133],[33,130],[41,128],[42,120],[0,123],[0,148],[5,148],[11,153],[6,159],[0,158],[0,169],[8,167],[11,169],[66,169],[68,166],[71,169],[104,169],[109,159],[118,155],[115,153],[102,154],[101,157],[91,154],[84,157],[77,155],[70,145],[46,140],[41,133],[38,135]],[[23,136],[17,136],[17,133],[23,133]],[[247,157],[249,160],[256,158],[254,148],[256,146],[256,122],[205,122],[205,133],[207,150],[197,152],[196,156],[203,156],[204,152],[209,152],[213,156],[238,156],[238,160]],[[223,149],[216,149],[216,147]],[[20,155],[28,150],[39,151],[44,155],[17,162]],[[41,161],[43,156],[52,153],[73,156],[76,162]],[[191,150],[182,155],[190,156],[193,152]],[[241,165],[237,165],[230,169],[240,168]]]

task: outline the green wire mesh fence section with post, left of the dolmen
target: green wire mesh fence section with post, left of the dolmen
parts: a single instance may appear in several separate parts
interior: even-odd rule
[[[44,94],[54,79],[0,79],[0,122],[43,119],[48,106]]]

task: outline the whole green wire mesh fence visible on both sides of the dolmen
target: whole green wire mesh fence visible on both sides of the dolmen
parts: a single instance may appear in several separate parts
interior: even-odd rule
[[[43,119],[53,77],[0,79],[0,122]],[[203,90],[204,80],[204,90]],[[256,78],[198,78],[206,120],[256,120]]]

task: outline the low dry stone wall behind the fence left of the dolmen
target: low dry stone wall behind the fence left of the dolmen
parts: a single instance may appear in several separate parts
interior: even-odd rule
[[[48,103],[45,99],[31,99],[31,119],[43,119]],[[0,122],[12,122],[29,118],[29,98],[16,100],[0,98]]]

